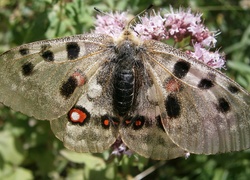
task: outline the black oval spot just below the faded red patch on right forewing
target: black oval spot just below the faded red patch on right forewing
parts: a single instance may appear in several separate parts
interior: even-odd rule
[[[174,94],[169,94],[165,101],[165,108],[170,118],[178,118],[181,115],[181,104]]]

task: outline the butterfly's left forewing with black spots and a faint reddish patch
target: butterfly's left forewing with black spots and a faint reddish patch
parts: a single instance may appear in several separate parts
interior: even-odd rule
[[[105,47],[112,41],[105,35],[77,35],[5,52],[0,56],[0,101],[37,119],[66,114],[106,60]]]

